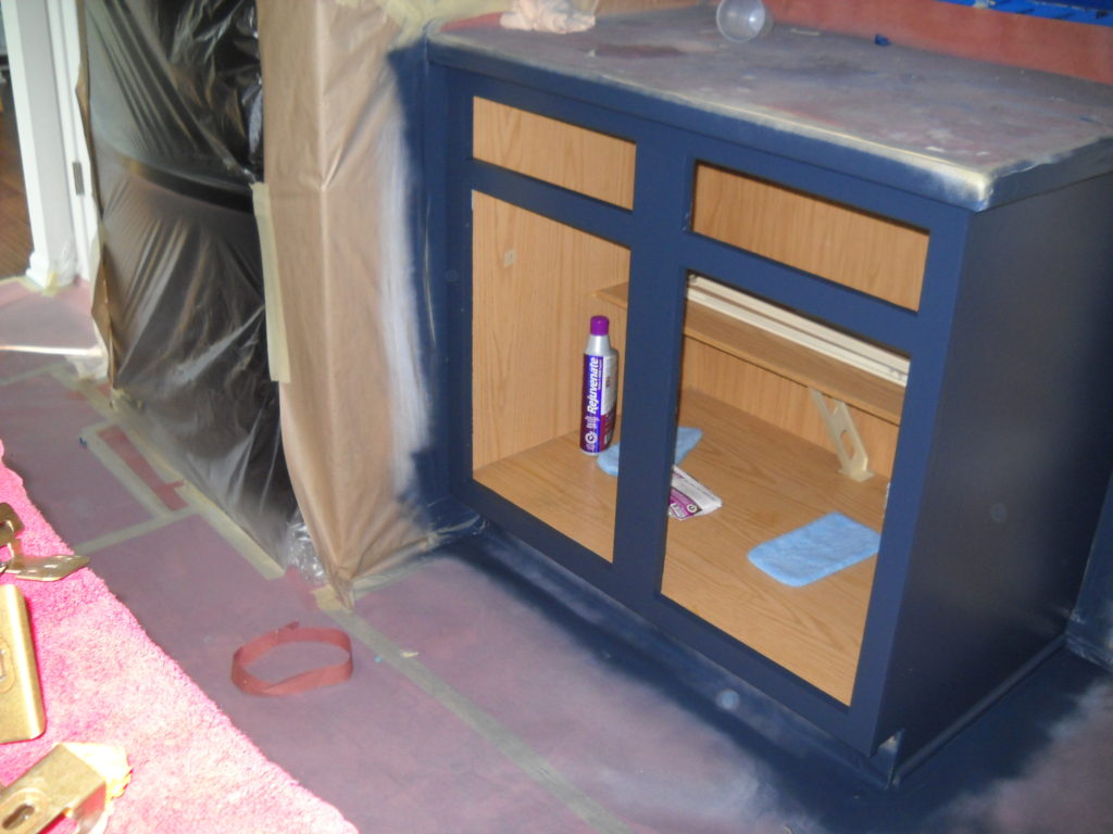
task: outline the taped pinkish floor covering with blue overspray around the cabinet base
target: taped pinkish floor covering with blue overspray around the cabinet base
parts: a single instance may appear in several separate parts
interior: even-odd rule
[[[0,282],[0,345],[88,345],[87,301]],[[693,696],[489,558],[498,543],[413,562],[343,609],[156,453],[127,463],[142,439],[59,356],[0,351],[0,438],[48,520],[151,638],[362,832],[1113,830],[1113,683],[1072,655],[885,793],[779,732],[776,712],[757,732]],[[353,637],[353,678],[285,698],[236,689],[235,649],[295,619]],[[253,672],[308,661],[278,652]]]

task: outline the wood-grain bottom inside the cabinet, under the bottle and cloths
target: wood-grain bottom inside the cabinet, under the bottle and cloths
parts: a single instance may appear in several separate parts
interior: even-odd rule
[[[886,481],[853,481],[838,474],[834,454],[697,391],[683,393],[680,414],[682,425],[703,430],[682,465],[723,506],[669,520],[663,594],[848,704],[875,559],[792,588],[746,555],[835,510],[880,529]],[[618,479],[580,451],[575,433],[484,466],[474,477],[612,559]]]

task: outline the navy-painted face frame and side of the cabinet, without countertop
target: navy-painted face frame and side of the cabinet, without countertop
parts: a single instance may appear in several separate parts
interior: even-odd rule
[[[475,97],[632,140],[633,208],[474,159]],[[892,160],[435,42],[426,103],[456,496],[887,770],[1062,645],[1113,461],[1113,175],[975,211]],[[692,232],[697,160],[927,230],[918,310]],[[613,564],[472,478],[473,191],[631,252]],[[690,270],[913,357],[849,706],[660,593]]]

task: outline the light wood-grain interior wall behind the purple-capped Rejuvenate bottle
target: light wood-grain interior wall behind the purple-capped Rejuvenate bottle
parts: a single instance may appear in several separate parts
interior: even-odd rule
[[[628,280],[630,254],[493,197],[473,197],[472,460],[480,469],[577,429],[593,315],[611,317],[621,398],[626,315],[593,292]]]

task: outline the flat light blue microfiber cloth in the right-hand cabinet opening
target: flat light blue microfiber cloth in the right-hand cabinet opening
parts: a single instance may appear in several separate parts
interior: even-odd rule
[[[869,527],[831,513],[758,545],[749,559],[778,582],[799,587],[868,559],[880,542]]]

